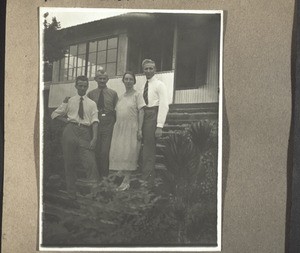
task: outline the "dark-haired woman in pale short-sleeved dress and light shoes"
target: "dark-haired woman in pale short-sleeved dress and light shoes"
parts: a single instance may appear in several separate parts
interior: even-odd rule
[[[120,96],[116,105],[117,121],[109,156],[109,170],[119,171],[124,176],[117,190],[129,188],[130,173],[137,169],[142,139],[143,107],[146,105],[142,94],[133,88],[136,83],[134,73],[127,71],[122,81],[126,92]]]

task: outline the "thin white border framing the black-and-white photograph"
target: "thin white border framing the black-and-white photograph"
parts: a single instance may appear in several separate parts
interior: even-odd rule
[[[221,251],[221,231],[222,231],[222,136],[223,136],[223,10],[172,10],[172,9],[118,9],[118,8],[61,8],[61,7],[40,7],[39,8],[39,118],[40,130],[43,129],[44,122],[44,82],[43,82],[43,13],[47,11],[55,12],[74,12],[81,11],[84,13],[107,11],[116,12],[145,12],[145,13],[184,13],[184,14],[220,14],[220,53],[219,53],[219,113],[218,113],[218,176],[217,176],[217,246],[211,247],[194,247],[194,246],[174,246],[174,247],[45,247],[42,246],[42,212],[43,212],[43,131],[40,131],[40,160],[39,160],[39,240],[38,248],[40,251],[177,251],[177,252],[210,252]]]

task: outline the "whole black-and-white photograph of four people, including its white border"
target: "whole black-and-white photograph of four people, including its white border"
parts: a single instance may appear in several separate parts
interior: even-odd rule
[[[39,16],[40,250],[221,250],[223,12]]]

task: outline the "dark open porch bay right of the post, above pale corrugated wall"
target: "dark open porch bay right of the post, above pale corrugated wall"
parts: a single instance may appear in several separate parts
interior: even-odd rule
[[[187,15],[178,22],[177,90],[198,89],[210,85],[212,80],[217,85],[219,24],[219,15],[201,18]]]

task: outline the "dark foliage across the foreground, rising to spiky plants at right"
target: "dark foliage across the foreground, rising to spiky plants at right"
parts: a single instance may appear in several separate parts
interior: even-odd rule
[[[45,219],[44,242],[53,245],[213,245],[217,219],[217,125],[202,121],[165,141],[166,170],[150,187],[136,175],[116,191],[110,175],[95,199],[75,214]],[[53,227],[54,226],[54,227]],[[52,229],[52,230],[51,230]],[[51,231],[60,231],[60,236]]]

